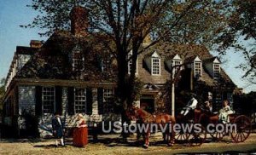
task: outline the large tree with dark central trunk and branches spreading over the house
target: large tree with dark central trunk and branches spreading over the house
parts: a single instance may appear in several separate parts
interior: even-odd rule
[[[25,27],[38,26],[44,30],[41,35],[49,36],[55,30],[69,30],[68,14],[73,6],[89,9],[90,32],[100,32],[113,43],[108,49],[117,60],[118,96],[125,110],[136,97],[137,56],[162,41],[211,43],[223,30],[220,21],[224,14],[219,10],[225,4],[214,0],[32,0],[29,7],[39,14]],[[151,42],[145,44],[148,36],[152,38]],[[104,42],[104,39],[99,40]],[[132,55],[128,57],[131,51]],[[130,60],[131,73],[128,74]],[[123,115],[122,121],[125,120]]]

